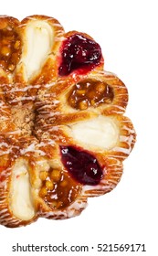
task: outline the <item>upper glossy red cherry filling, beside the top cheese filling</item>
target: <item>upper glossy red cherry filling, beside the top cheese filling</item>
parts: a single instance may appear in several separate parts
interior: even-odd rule
[[[63,43],[58,74],[66,76],[75,69],[93,69],[100,64],[100,59],[101,48],[98,43],[79,34],[73,35]]]

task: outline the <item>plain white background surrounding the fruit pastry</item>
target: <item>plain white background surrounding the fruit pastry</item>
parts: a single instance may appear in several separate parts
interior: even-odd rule
[[[0,227],[0,254],[59,255],[56,252],[12,252],[21,245],[89,245],[144,243],[147,252],[60,252],[61,255],[158,255],[158,15],[157,1],[56,0],[2,1],[1,15],[54,16],[65,30],[90,34],[100,43],[105,69],[116,73],[129,90],[126,115],[137,131],[137,143],[124,163],[121,183],[110,194],[91,198],[74,219],[38,219],[26,228]],[[157,243],[157,244],[156,244]]]

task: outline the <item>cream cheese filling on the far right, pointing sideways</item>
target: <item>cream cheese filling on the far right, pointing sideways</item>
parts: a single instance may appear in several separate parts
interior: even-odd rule
[[[99,116],[71,126],[72,136],[82,144],[109,150],[119,139],[119,127],[114,119]]]

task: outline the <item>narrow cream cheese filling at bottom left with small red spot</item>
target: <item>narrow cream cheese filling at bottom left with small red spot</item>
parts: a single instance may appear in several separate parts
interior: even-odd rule
[[[23,159],[16,161],[13,168],[12,186],[10,193],[10,208],[13,215],[22,220],[32,219],[35,209],[31,198],[26,162]]]

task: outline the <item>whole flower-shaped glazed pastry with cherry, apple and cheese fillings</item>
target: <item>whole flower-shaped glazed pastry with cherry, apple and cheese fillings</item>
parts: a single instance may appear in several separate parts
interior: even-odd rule
[[[92,37],[0,16],[0,224],[68,219],[116,187],[136,137],[127,103]]]

